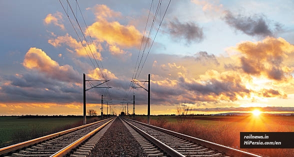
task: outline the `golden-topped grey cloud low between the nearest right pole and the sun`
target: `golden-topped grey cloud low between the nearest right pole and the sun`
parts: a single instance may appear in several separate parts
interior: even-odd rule
[[[209,77],[209,79],[205,79]],[[249,96],[251,92],[242,83],[242,78],[235,72],[217,72],[210,70],[205,73],[204,79],[190,80],[181,76],[181,84],[190,92],[198,95],[200,101],[237,100]]]

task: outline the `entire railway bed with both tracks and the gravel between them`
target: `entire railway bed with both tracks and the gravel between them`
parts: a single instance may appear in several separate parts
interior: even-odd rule
[[[112,124],[113,123],[113,124]],[[128,133],[113,127],[119,123]],[[121,127],[120,126],[120,127]],[[109,128],[109,129],[108,129]],[[112,128],[112,129],[110,129]],[[109,132],[106,132],[110,130]],[[116,128],[117,130],[117,128]],[[106,132],[106,133],[105,133]],[[100,140],[103,134],[119,138]],[[109,134],[112,133],[112,134]],[[120,135],[121,134],[121,135]],[[123,142],[123,141],[128,142]],[[120,142],[122,141],[122,142]],[[106,144],[105,144],[106,142]],[[108,146],[106,147],[105,145]],[[110,146],[109,146],[110,144]],[[113,146],[111,146],[113,144]],[[119,145],[120,144],[120,145]],[[128,144],[127,146],[124,144]],[[103,147],[104,145],[104,147]],[[115,146],[116,145],[116,146]],[[118,145],[118,146],[117,146]],[[136,148],[133,148],[133,147]],[[116,150],[118,148],[118,150]],[[127,150],[133,149],[133,150]],[[100,152],[104,150],[103,152]],[[106,150],[106,151],[105,151]],[[142,150],[143,152],[137,152]],[[131,154],[133,152],[133,154]],[[136,153],[135,153],[136,152]],[[115,154],[116,153],[116,154]],[[0,156],[258,156],[126,118],[109,118],[0,148]]]

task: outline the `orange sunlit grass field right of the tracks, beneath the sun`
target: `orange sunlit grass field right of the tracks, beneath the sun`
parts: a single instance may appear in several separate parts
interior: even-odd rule
[[[146,116],[136,120],[146,122]],[[239,148],[239,132],[292,132],[294,116],[151,116],[150,123],[218,144]],[[265,156],[294,156],[293,149],[241,149]]]

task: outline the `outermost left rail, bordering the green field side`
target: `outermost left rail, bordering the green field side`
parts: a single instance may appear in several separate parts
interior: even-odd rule
[[[108,118],[108,119],[110,119],[110,118]],[[104,120],[108,120],[108,119],[104,119]],[[52,133],[52,134],[45,135],[45,136],[42,136],[42,137],[38,137],[38,138],[34,138],[34,139],[27,140],[27,141],[24,141],[24,142],[20,142],[20,143],[17,143],[17,144],[2,147],[2,148],[0,148],[0,155],[5,155],[5,154],[7,154],[9,152],[14,152],[14,151],[16,151],[18,149],[21,149],[23,147],[27,147],[27,146],[42,142],[44,140],[51,139],[51,138],[54,138],[56,136],[59,136],[59,135],[65,134],[65,133],[81,129],[81,128],[84,128],[84,127],[87,127],[87,126],[102,122],[104,120],[92,122],[92,123],[89,123],[89,124],[77,126],[77,127],[71,128],[71,129],[64,130],[64,131]]]

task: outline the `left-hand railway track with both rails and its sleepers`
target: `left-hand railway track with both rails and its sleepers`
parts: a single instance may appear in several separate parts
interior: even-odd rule
[[[89,151],[93,142],[89,140],[97,131],[107,127],[114,118],[108,118],[72,129],[60,131],[43,137],[35,138],[18,144],[0,148],[0,156],[65,156],[81,147],[79,152]],[[107,125],[107,126],[106,126]],[[104,128],[104,131],[106,129]],[[94,136],[101,134],[99,131]],[[88,143],[84,143],[88,140]],[[74,155],[72,155],[74,156]]]

